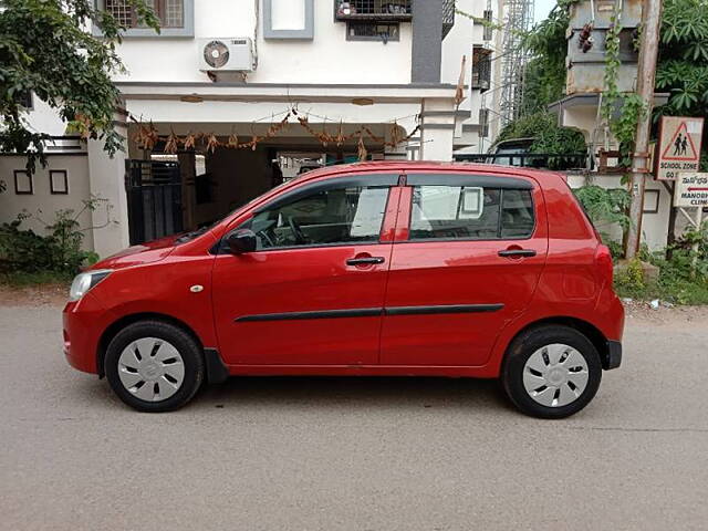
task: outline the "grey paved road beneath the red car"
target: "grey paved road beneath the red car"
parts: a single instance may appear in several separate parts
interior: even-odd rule
[[[493,382],[233,378],[167,415],[71,369],[53,306],[0,306],[2,530],[708,529],[708,319],[629,320],[562,421]]]

